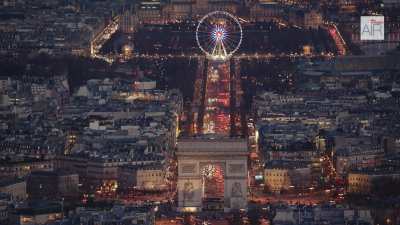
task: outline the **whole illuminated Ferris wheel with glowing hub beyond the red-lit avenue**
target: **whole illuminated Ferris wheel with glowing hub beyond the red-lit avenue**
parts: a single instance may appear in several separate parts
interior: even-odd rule
[[[205,15],[196,28],[196,42],[211,60],[227,60],[242,43],[242,26],[230,13],[214,11]]]

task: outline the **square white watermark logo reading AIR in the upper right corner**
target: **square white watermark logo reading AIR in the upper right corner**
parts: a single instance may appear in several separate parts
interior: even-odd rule
[[[383,16],[362,16],[361,24],[362,41],[383,41],[385,40],[385,17]]]

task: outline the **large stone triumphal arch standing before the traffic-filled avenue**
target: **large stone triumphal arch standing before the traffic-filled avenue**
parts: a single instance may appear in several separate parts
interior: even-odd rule
[[[183,138],[178,141],[178,211],[202,210],[202,171],[224,171],[224,211],[247,208],[247,141],[231,138]]]

